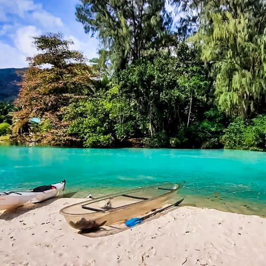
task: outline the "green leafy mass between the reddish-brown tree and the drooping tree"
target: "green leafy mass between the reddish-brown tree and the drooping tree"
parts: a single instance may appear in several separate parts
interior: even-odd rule
[[[200,118],[209,87],[194,50],[182,43],[172,52],[143,57],[116,72],[106,89],[68,106],[68,133],[85,146],[123,145],[137,137],[148,146],[170,146],[170,137]]]

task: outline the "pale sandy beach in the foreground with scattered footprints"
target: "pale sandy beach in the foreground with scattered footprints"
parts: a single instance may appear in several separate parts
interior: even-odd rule
[[[266,218],[192,206],[115,235],[77,234],[56,199],[0,216],[0,262],[30,266],[264,266]]]

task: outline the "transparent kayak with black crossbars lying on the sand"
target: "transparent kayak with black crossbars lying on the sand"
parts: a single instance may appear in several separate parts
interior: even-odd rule
[[[124,222],[159,208],[176,195],[178,188],[178,185],[173,188],[169,188],[169,185],[139,188],[69,205],[60,213],[75,229],[97,228]]]

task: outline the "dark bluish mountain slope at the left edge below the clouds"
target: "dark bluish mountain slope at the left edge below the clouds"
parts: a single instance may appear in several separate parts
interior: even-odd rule
[[[26,69],[27,68],[0,69],[0,101],[12,101],[17,97],[22,75]]]

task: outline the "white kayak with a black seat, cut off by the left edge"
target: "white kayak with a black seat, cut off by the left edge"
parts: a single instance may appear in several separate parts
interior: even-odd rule
[[[66,180],[49,186],[40,186],[30,191],[0,192],[0,210],[13,209],[27,203],[41,202],[63,194]]]

